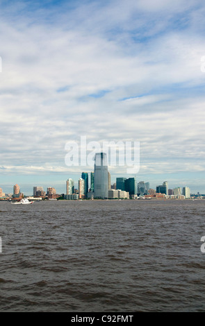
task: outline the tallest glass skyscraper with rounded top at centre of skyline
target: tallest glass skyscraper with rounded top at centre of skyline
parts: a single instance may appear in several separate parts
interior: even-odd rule
[[[95,198],[108,198],[108,162],[106,153],[95,154]]]

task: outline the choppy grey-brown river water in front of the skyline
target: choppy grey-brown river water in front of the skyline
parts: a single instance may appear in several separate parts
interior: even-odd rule
[[[0,202],[0,311],[204,311],[205,200]]]

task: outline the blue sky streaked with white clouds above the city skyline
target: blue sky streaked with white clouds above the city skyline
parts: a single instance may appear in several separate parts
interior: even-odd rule
[[[93,168],[65,148],[86,137],[139,142],[138,173],[109,166],[111,183],[205,193],[204,16],[203,0],[1,1],[3,191],[77,187]]]

